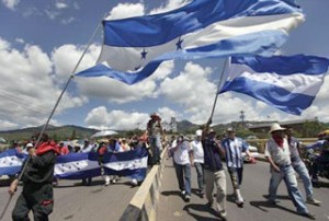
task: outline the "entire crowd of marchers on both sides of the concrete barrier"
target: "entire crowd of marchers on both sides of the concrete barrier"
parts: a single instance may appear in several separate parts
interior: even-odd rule
[[[241,194],[241,184],[243,177],[243,156],[251,158],[248,143],[236,136],[234,128],[226,129],[226,136],[220,137],[209,127],[209,120],[203,129],[195,131],[194,138],[191,140],[184,135],[172,136],[169,141],[164,136],[161,126],[161,118],[157,114],[150,115],[147,124],[147,130],[141,136],[133,136],[125,138],[109,138],[98,142],[95,140],[83,141],[81,146],[73,146],[68,141],[55,143],[44,133],[41,142],[35,143],[35,139],[25,142],[23,147],[14,142],[12,148],[19,152],[29,154],[23,167],[21,182],[23,182],[23,191],[20,195],[14,210],[12,212],[13,220],[24,220],[27,218],[30,210],[34,213],[34,220],[47,220],[48,214],[53,210],[53,185],[58,185],[58,179],[54,179],[54,166],[57,155],[66,155],[77,152],[95,152],[99,155],[101,165],[101,175],[104,178],[104,185],[117,182],[116,175],[105,175],[103,164],[103,155],[106,152],[117,153],[131,151],[136,148],[147,148],[149,153],[150,166],[161,162],[162,146],[168,146],[168,156],[172,156],[178,186],[182,198],[189,202],[191,200],[191,170],[192,165],[196,171],[197,195],[207,200],[209,208],[215,207],[218,217],[223,220],[227,219],[227,182],[225,166],[230,177],[234,189],[235,200],[238,207],[243,207],[245,198]],[[276,203],[276,190],[283,179],[287,187],[287,193],[300,216],[315,219],[307,207],[307,203],[320,206],[320,201],[315,199],[313,193],[313,182],[308,171],[300,158],[300,142],[293,137],[292,128],[283,128],[279,124],[273,124],[269,131],[269,140],[265,143],[265,158],[270,163],[271,178],[269,182],[269,202]],[[37,147],[35,147],[37,144]],[[303,181],[306,198],[299,191],[296,174]],[[82,179],[83,185],[90,185],[91,177]],[[137,181],[132,181],[133,185],[137,185]],[[9,188],[9,194],[13,195],[19,185],[15,178]],[[215,195],[214,195],[215,190]],[[46,194],[41,194],[41,191]]]

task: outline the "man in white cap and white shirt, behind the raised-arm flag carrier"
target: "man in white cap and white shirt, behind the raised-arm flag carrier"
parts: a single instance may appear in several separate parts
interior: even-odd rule
[[[204,151],[201,142],[202,130],[195,131],[195,138],[190,143],[192,148],[193,154],[193,163],[197,174],[197,186],[198,186],[198,195],[203,198],[204,195],[204,178],[203,178],[203,164],[204,164]]]

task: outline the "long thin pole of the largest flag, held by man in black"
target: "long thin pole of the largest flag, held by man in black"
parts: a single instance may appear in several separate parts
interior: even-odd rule
[[[48,124],[49,124],[49,121],[50,121],[53,115],[55,114],[55,111],[56,111],[56,108],[57,108],[57,106],[58,106],[58,104],[59,104],[59,102],[60,102],[60,100],[61,100],[61,97],[63,97],[65,91],[67,90],[67,88],[68,88],[70,81],[73,79],[75,72],[77,71],[79,65],[81,63],[81,60],[82,60],[82,58],[84,57],[86,53],[88,51],[88,49],[89,49],[91,43],[93,42],[93,39],[94,39],[97,33],[99,32],[99,30],[100,30],[100,27],[101,27],[101,25],[102,25],[102,21],[105,19],[106,14],[107,14],[107,13],[105,13],[104,16],[102,18],[102,20],[99,22],[99,25],[97,26],[95,31],[93,32],[93,34],[92,34],[92,36],[91,36],[91,38],[90,38],[88,45],[86,46],[86,48],[84,48],[82,55],[80,56],[80,59],[78,60],[77,65],[75,66],[72,72],[71,72],[71,74],[70,74],[70,77],[69,77],[69,79],[68,79],[68,81],[67,81],[66,84],[65,84],[64,90],[61,91],[59,97],[58,97],[57,101],[56,101],[56,104],[55,104],[55,106],[54,106],[54,108],[53,108],[53,111],[52,111],[52,113],[50,113],[50,115],[49,115],[49,117],[48,117],[46,124],[43,126],[43,129],[42,129],[42,131],[39,132],[39,135],[38,135],[38,137],[37,137],[37,140],[36,140],[35,144],[34,144],[34,148],[36,148],[36,147],[39,144],[41,138],[42,138],[43,133],[44,133],[45,130],[47,129]],[[21,181],[21,179],[22,179],[22,176],[23,176],[23,174],[25,173],[25,170],[26,170],[26,167],[27,167],[27,164],[29,164],[29,161],[30,161],[30,160],[31,160],[31,156],[29,155],[27,159],[26,159],[26,162],[25,162],[25,164],[24,164],[24,166],[23,166],[23,168],[22,168],[22,171],[21,171],[21,173],[20,173],[20,175],[19,175],[19,177],[18,177],[18,181]],[[9,199],[8,199],[8,202],[7,202],[4,209],[3,209],[2,213],[1,213],[0,220],[1,220],[2,217],[4,216],[4,213],[5,213],[5,211],[7,211],[7,208],[8,208],[8,206],[10,205],[10,201],[11,201],[11,199],[12,199],[12,196],[13,196],[13,195],[10,195],[10,197],[9,197]]]

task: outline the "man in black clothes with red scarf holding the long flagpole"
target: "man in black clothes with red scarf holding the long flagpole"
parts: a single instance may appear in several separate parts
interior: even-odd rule
[[[30,210],[33,211],[35,221],[47,221],[53,211],[53,177],[56,155],[60,154],[55,142],[47,135],[42,135],[42,143],[30,149],[30,156],[24,162],[26,168],[22,176],[23,191],[18,198],[12,211],[14,221],[29,220]],[[9,188],[9,194],[16,190],[19,179],[14,179]]]

